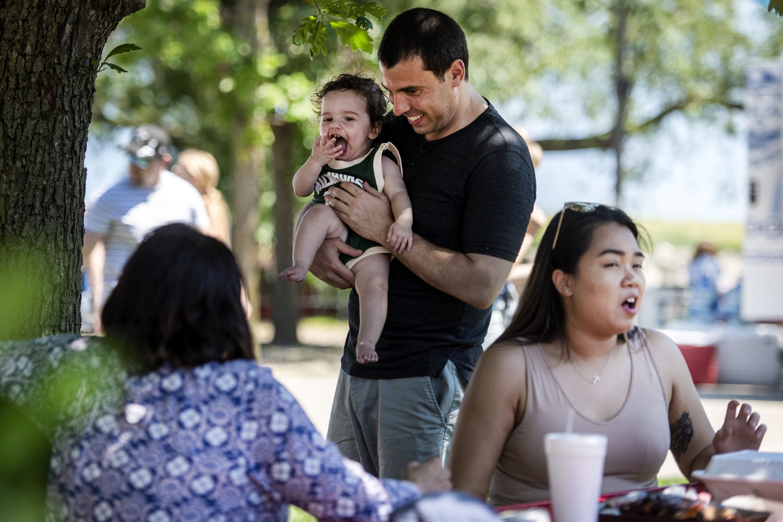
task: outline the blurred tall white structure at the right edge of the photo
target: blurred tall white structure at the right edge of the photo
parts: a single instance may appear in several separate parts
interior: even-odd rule
[[[746,92],[749,205],[740,313],[745,321],[781,321],[783,64],[749,66]]]

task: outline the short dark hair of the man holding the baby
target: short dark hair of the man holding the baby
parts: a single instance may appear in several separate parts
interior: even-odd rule
[[[454,60],[465,64],[467,81],[467,40],[459,23],[446,13],[417,7],[391,20],[378,46],[378,61],[391,69],[398,63],[418,56],[424,70],[431,70],[439,81]]]

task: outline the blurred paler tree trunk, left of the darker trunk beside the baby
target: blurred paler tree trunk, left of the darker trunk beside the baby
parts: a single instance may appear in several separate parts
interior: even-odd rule
[[[269,45],[269,0],[222,0],[221,16],[229,27],[241,34],[254,56]],[[264,149],[245,138],[252,115],[247,100],[237,100],[233,124],[233,233],[232,249],[244,275],[248,297],[254,310],[261,309],[258,289],[258,196],[260,171],[265,164]],[[246,110],[242,110],[244,107]]]

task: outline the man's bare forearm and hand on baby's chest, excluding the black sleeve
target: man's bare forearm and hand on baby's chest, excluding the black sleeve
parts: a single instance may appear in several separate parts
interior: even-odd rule
[[[364,190],[352,183],[342,183],[341,188],[330,188],[326,199],[359,236],[384,243],[394,216],[386,196],[370,183],[364,184]],[[413,234],[411,250],[394,255],[426,283],[479,309],[493,304],[512,265],[500,257],[435,247],[417,234]]]

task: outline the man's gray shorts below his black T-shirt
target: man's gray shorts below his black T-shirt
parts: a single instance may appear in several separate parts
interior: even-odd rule
[[[445,464],[466,385],[451,361],[438,377],[362,379],[340,370],[327,437],[376,477],[400,478],[412,460]]]

